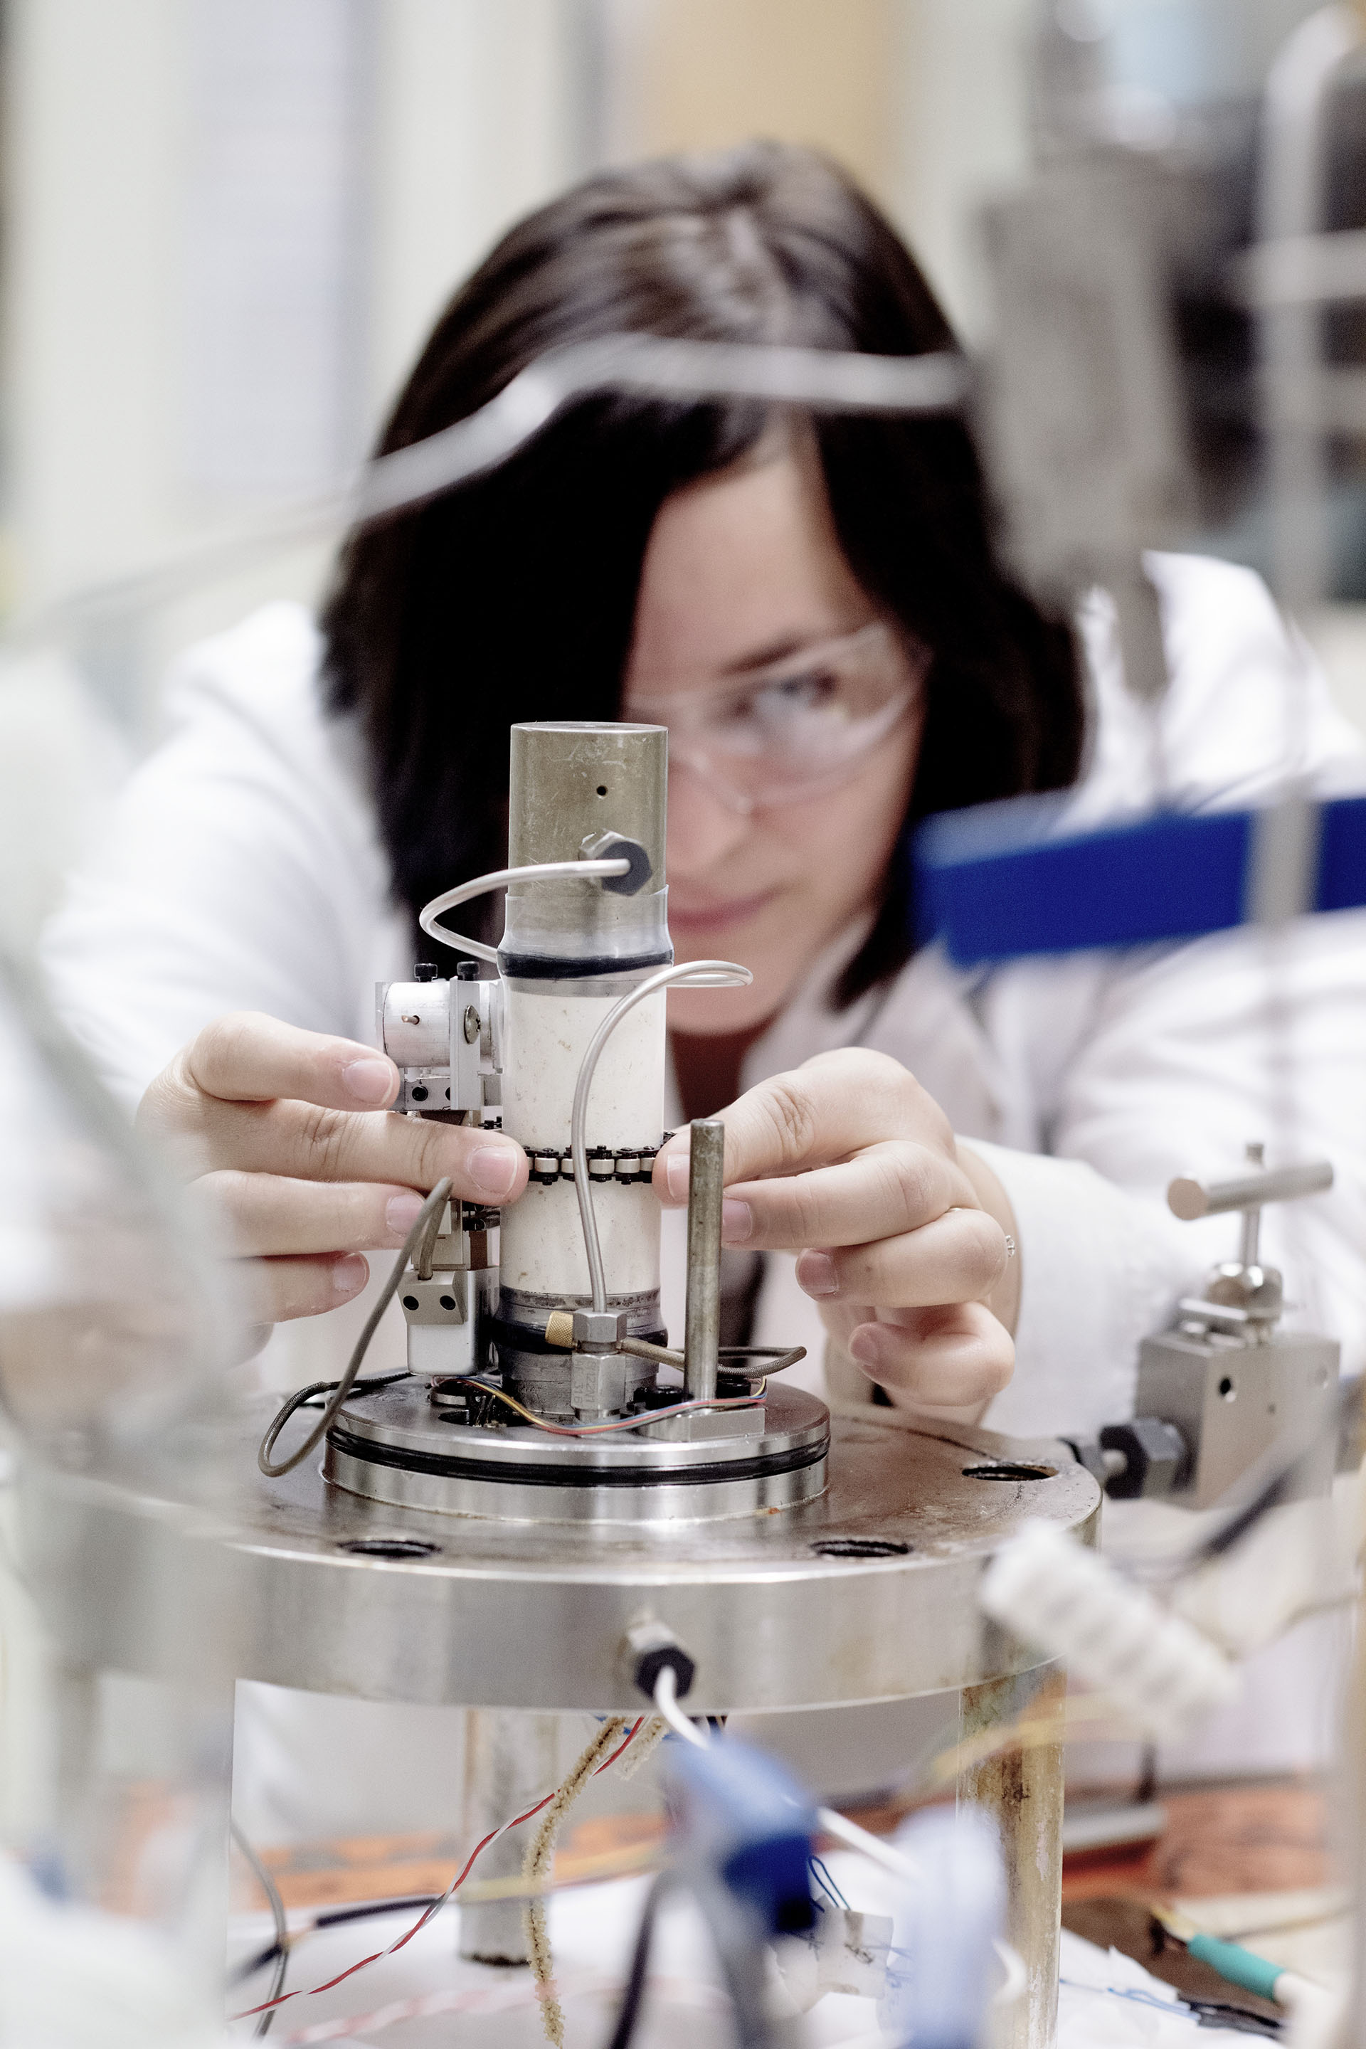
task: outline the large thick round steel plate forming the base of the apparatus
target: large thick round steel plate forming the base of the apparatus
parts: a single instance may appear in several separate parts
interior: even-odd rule
[[[373,1701],[639,1709],[621,1643],[647,1619],[696,1660],[692,1713],[1030,1670],[1038,1654],[985,1623],[977,1582],[1028,1516],[1090,1537],[1096,1481],[1061,1445],[879,1418],[836,1420],[829,1486],[797,1508],[551,1527],[360,1500],[315,1461],[260,1479],[264,1404],[238,1504],[197,1529],[172,1504],[20,1473],[25,1570],[78,1664],[201,1676],[229,1656],[242,1678]]]

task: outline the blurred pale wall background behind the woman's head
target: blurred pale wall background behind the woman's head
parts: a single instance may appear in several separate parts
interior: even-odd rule
[[[1112,133],[1161,150],[1198,121],[1233,176],[1270,55],[1307,12],[4,0],[2,615],[23,627],[59,607],[72,672],[49,664],[45,695],[74,715],[84,693],[109,746],[137,754],[172,652],[266,596],[315,592],[328,549],[244,557],[184,588],[119,580],[342,482],[453,285],[565,182],[748,135],[819,143],[985,342],[975,215],[1030,162],[1040,20],[1100,64]],[[1309,623],[1354,713],[1366,541],[1360,557]]]

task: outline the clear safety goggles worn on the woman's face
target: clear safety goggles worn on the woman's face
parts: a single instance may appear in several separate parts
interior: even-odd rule
[[[670,729],[670,768],[705,775],[737,811],[846,783],[920,699],[928,654],[883,621],[696,691],[631,697],[627,719]]]

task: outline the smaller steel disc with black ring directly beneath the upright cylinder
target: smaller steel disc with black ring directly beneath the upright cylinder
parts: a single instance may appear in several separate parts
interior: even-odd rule
[[[690,1440],[637,1430],[551,1436],[535,1424],[469,1430],[430,1402],[426,1381],[401,1379],[348,1402],[324,1473],[393,1508],[633,1527],[795,1508],[825,1488],[829,1410],[801,1387],[770,1385],[762,1410],[713,1410],[700,1426],[709,1434]]]

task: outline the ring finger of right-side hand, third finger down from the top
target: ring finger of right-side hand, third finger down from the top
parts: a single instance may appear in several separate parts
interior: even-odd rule
[[[797,1283],[821,1305],[895,1309],[981,1301],[1006,1270],[1006,1233],[985,1209],[950,1209],[920,1229],[864,1246],[803,1252]]]

